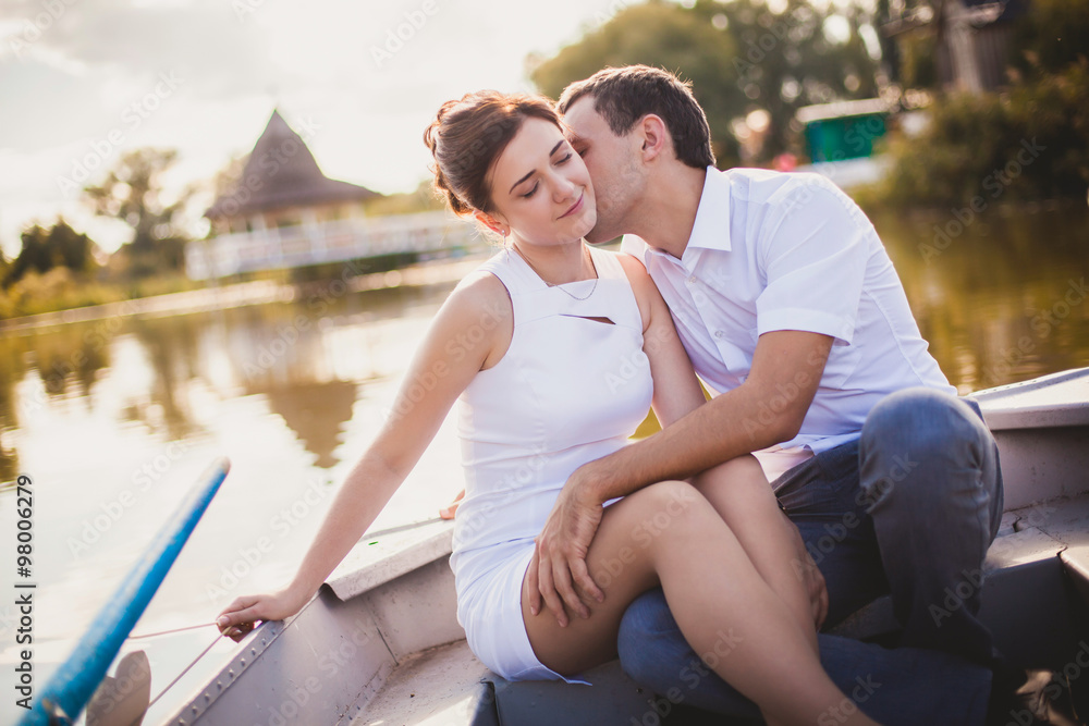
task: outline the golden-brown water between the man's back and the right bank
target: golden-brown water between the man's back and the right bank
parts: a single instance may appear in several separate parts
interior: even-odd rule
[[[952,211],[873,222],[962,393],[1089,365],[1085,209],[999,207],[967,226]]]

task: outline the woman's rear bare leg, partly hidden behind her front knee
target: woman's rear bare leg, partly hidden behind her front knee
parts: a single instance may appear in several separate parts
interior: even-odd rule
[[[708,469],[693,481],[741,542],[760,577],[786,603],[817,652],[812,604],[799,566],[794,527],[779,508],[775,493],[752,456],[739,456]]]

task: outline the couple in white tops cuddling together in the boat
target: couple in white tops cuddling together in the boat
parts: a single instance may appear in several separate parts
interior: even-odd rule
[[[978,593],[929,606],[994,538],[998,452],[872,226],[820,177],[718,171],[669,73],[608,69],[559,109],[439,110],[436,186],[504,248],[442,306],[294,580],[221,630],[297,612],[457,399],[457,616],[499,675],[577,682],[619,650],[672,700],[772,724],[980,723]],[[663,430],[629,444],[650,405]],[[818,636],[885,592],[908,648]]]

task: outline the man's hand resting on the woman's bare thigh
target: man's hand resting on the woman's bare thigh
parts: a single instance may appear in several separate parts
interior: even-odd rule
[[[586,566],[586,553],[601,524],[604,507],[600,502],[579,496],[576,489],[568,483],[560,491],[544,528],[535,540],[534,556],[526,573],[529,612],[537,615],[543,599],[561,627],[567,625],[565,604],[586,618],[590,616],[587,603],[605,599]]]

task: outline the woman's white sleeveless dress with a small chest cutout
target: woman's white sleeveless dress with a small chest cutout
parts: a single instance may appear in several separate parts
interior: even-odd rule
[[[507,680],[563,678],[537,660],[522,618],[534,538],[567,477],[626,445],[650,408],[635,294],[614,253],[590,255],[596,287],[550,287],[512,249],[479,268],[506,286],[514,335],[458,401],[466,492],[450,566],[469,648]]]

